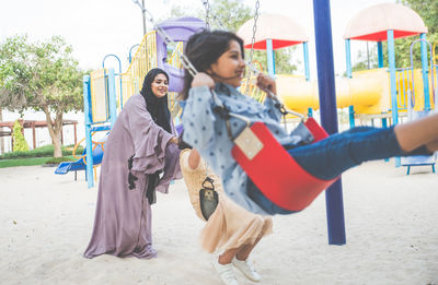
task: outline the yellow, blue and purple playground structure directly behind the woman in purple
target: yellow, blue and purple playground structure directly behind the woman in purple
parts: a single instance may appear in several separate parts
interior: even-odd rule
[[[103,60],[102,69],[84,76],[85,150],[82,156],[77,157],[78,161],[60,164],[56,174],[62,175],[71,170],[85,169],[89,188],[94,186],[93,169],[96,179],[95,166],[102,162],[105,140],[93,141],[93,133],[108,132],[113,128],[117,114],[123,109],[126,100],[139,93],[146,74],[153,68],[161,68],[168,72],[170,76],[169,106],[172,116],[177,116],[181,108],[176,96],[183,87],[184,76],[178,51],[182,51],[183,43],[192,34],[205,27],[205,23],[196,17],[181,17],[165,21],[160,26],[178,41],[175,47],[168,47],[165,40],[152,31],[145,35],[126,72],[122,73],[122,64],[117,56],[107,55]],[[171,48],[173,52],[168,60],[168,50]],[[108,57],[115,57],[118,60],[118,73],[114,69],[105,69],[105,59]]]

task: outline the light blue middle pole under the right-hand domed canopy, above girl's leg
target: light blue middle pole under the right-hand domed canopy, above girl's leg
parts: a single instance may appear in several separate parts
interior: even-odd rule
[[[399,123],[399,107],[396,99],[395,85],[395,51],[394,51],[394,31],[388,29],[388,62],[390,64],[390,85],[391,85],[391,109],[392,124]],[[395,167],[400,167],[400,157],[395,157]]]

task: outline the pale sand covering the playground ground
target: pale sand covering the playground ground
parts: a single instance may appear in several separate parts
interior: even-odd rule
[[[0,284],[221,285],[182,180],[152,206],[157,259],[89,260],[96,188],[83,173],[74,181],[54,170],[0,169]],[[345,246],[327,245],[324,194],[299,214],[275,216],[274,234],[252,254],[260,284],[438,284],[438,175],[412,173],[373,162],[343,176]]]

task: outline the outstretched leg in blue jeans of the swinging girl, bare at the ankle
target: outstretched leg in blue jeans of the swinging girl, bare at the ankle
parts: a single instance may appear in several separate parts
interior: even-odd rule
[[[288,152],[309,174],[330,180],[367,161],[430,155],[438,147],[437,139],[438,116],[433,115],[388,129],[354,128]]]

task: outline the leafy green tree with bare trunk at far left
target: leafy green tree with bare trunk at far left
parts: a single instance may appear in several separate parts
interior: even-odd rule
[[[44,111],[55,157],[62,156],[64,112],[83,109],[84,73],[71,52],[59,36],[30,43],[26,35],[16,35],[0,44],[0,108]]]

